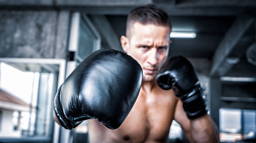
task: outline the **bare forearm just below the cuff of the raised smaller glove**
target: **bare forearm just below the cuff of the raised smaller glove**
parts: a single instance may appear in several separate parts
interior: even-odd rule
[[[209,115],[192,119],[190,124],[194,143],[219,143],[218,128]]]

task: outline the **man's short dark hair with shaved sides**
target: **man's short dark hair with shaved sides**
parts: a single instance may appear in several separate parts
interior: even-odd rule
[[[130,11],[126,22],[126,36],[128,35],[128,30],[130,30],[130,27],[135,22],[144,25],[155,24],[159,26],[169,26],[171,29],[171,20],[167,12],[154,4],[139,6]]]

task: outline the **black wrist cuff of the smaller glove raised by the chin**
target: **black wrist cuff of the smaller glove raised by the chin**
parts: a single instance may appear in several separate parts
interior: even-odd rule
[[[180,96],[183,108],[189,119],[196,119],[207,114],[207,100],[200,84],[186,95]]]

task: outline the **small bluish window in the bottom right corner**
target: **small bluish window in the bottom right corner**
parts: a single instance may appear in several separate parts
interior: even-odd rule
[[[220,141],[236,142],[252,139],[256,133],[256,111],[221,108]]]

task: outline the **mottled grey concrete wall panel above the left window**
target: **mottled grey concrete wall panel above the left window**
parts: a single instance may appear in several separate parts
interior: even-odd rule
[[[0,57],[65,58],[67,11],[0,11]]]

